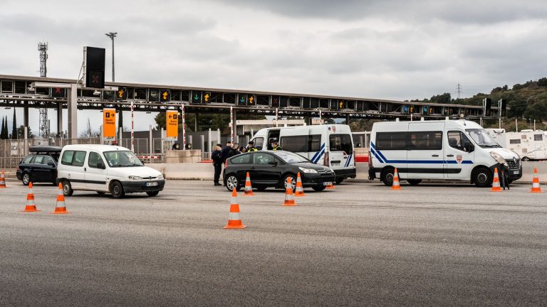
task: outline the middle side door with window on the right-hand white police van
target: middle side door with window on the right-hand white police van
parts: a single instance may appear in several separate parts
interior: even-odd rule
[[[444,122],[408,125],[408,178],[444,179],[443,131]]]

